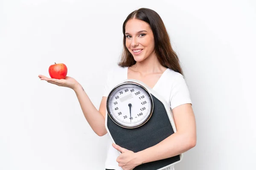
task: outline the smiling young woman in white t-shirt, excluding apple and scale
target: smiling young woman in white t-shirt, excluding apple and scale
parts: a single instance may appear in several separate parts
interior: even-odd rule
[[[189,90],[183,78],[179,59],[172,49],[169,35],[160,16],[148,8],[133,11],[123,23],[123,35],[122,59],[109,71],[99,111],[79,82],[72,77],[50,79],[43,75],[38,76],[49,83],[73,89],[87,122],[99,136],[107,133],[106,100],[108,93],[119,81],[140,80],[170,104],[177,132],[153,147],[137,153],[118,145],[111,146],[110,143],[105,168],[113,170],[132,170],[146,162],[184,153],[196,144],[195,116]],[[120,152],[122,153],[119,155]],[[174,167],[166,170],[174,170]]]

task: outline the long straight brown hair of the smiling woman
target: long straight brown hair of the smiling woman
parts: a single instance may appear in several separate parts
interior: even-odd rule
[[[124,35],[124,50],[122,52],[122,58],[118,65],[121,67],[129,67],[136,63],[132,54],[130,53],[130,51],[128,51],[125,45],[125,25],[128,20],[133,18],[145,21],[151,27],[154,34],[155,52],[157,54],[157,59],[159,60],[160,64],[166,68],[170,68],[173,71],[179,72],[183,75],[182,68],[180,67],[180,61],[177,57],[177,54],[172,49],[169,34],[166,31],[166,27],[164,26],[163,20],[161,19],[159,14],[157,14],[157,12],[148,8],[140,8],[138,10],[133,11],[131,14],[128,15],[128,17],[124,21],[122,27]]]

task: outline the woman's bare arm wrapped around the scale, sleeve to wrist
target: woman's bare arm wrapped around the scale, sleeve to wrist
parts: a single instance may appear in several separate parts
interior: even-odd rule
[[[177,106],[172,110],[177,132],[160,143],[137,152],[140,163],[157,161],[179,155],[195,147],[196,125],[191,104]]]

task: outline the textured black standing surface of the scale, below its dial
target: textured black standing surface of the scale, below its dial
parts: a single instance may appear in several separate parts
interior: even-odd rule
[[[154,110],[151,118],[143,126],[128,129],[116,125],[108,116],[108,129],[116,144],[125,149],[138,152],[154,146],[174,133],[166,109],[162,102],[151,94]],[[180,156],[141,164],[134,170],[158,170],[180,160]]]

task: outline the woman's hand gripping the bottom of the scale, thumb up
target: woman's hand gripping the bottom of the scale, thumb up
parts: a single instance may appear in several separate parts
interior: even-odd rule
[[[121,152],[116,161],[118,162],[118,166],[122,167],[123,170],[132,170],[134,167],[142,164],[140,159],[137,157],[137,153],[120,147],[117,144],[113,144],[113,147]]]

